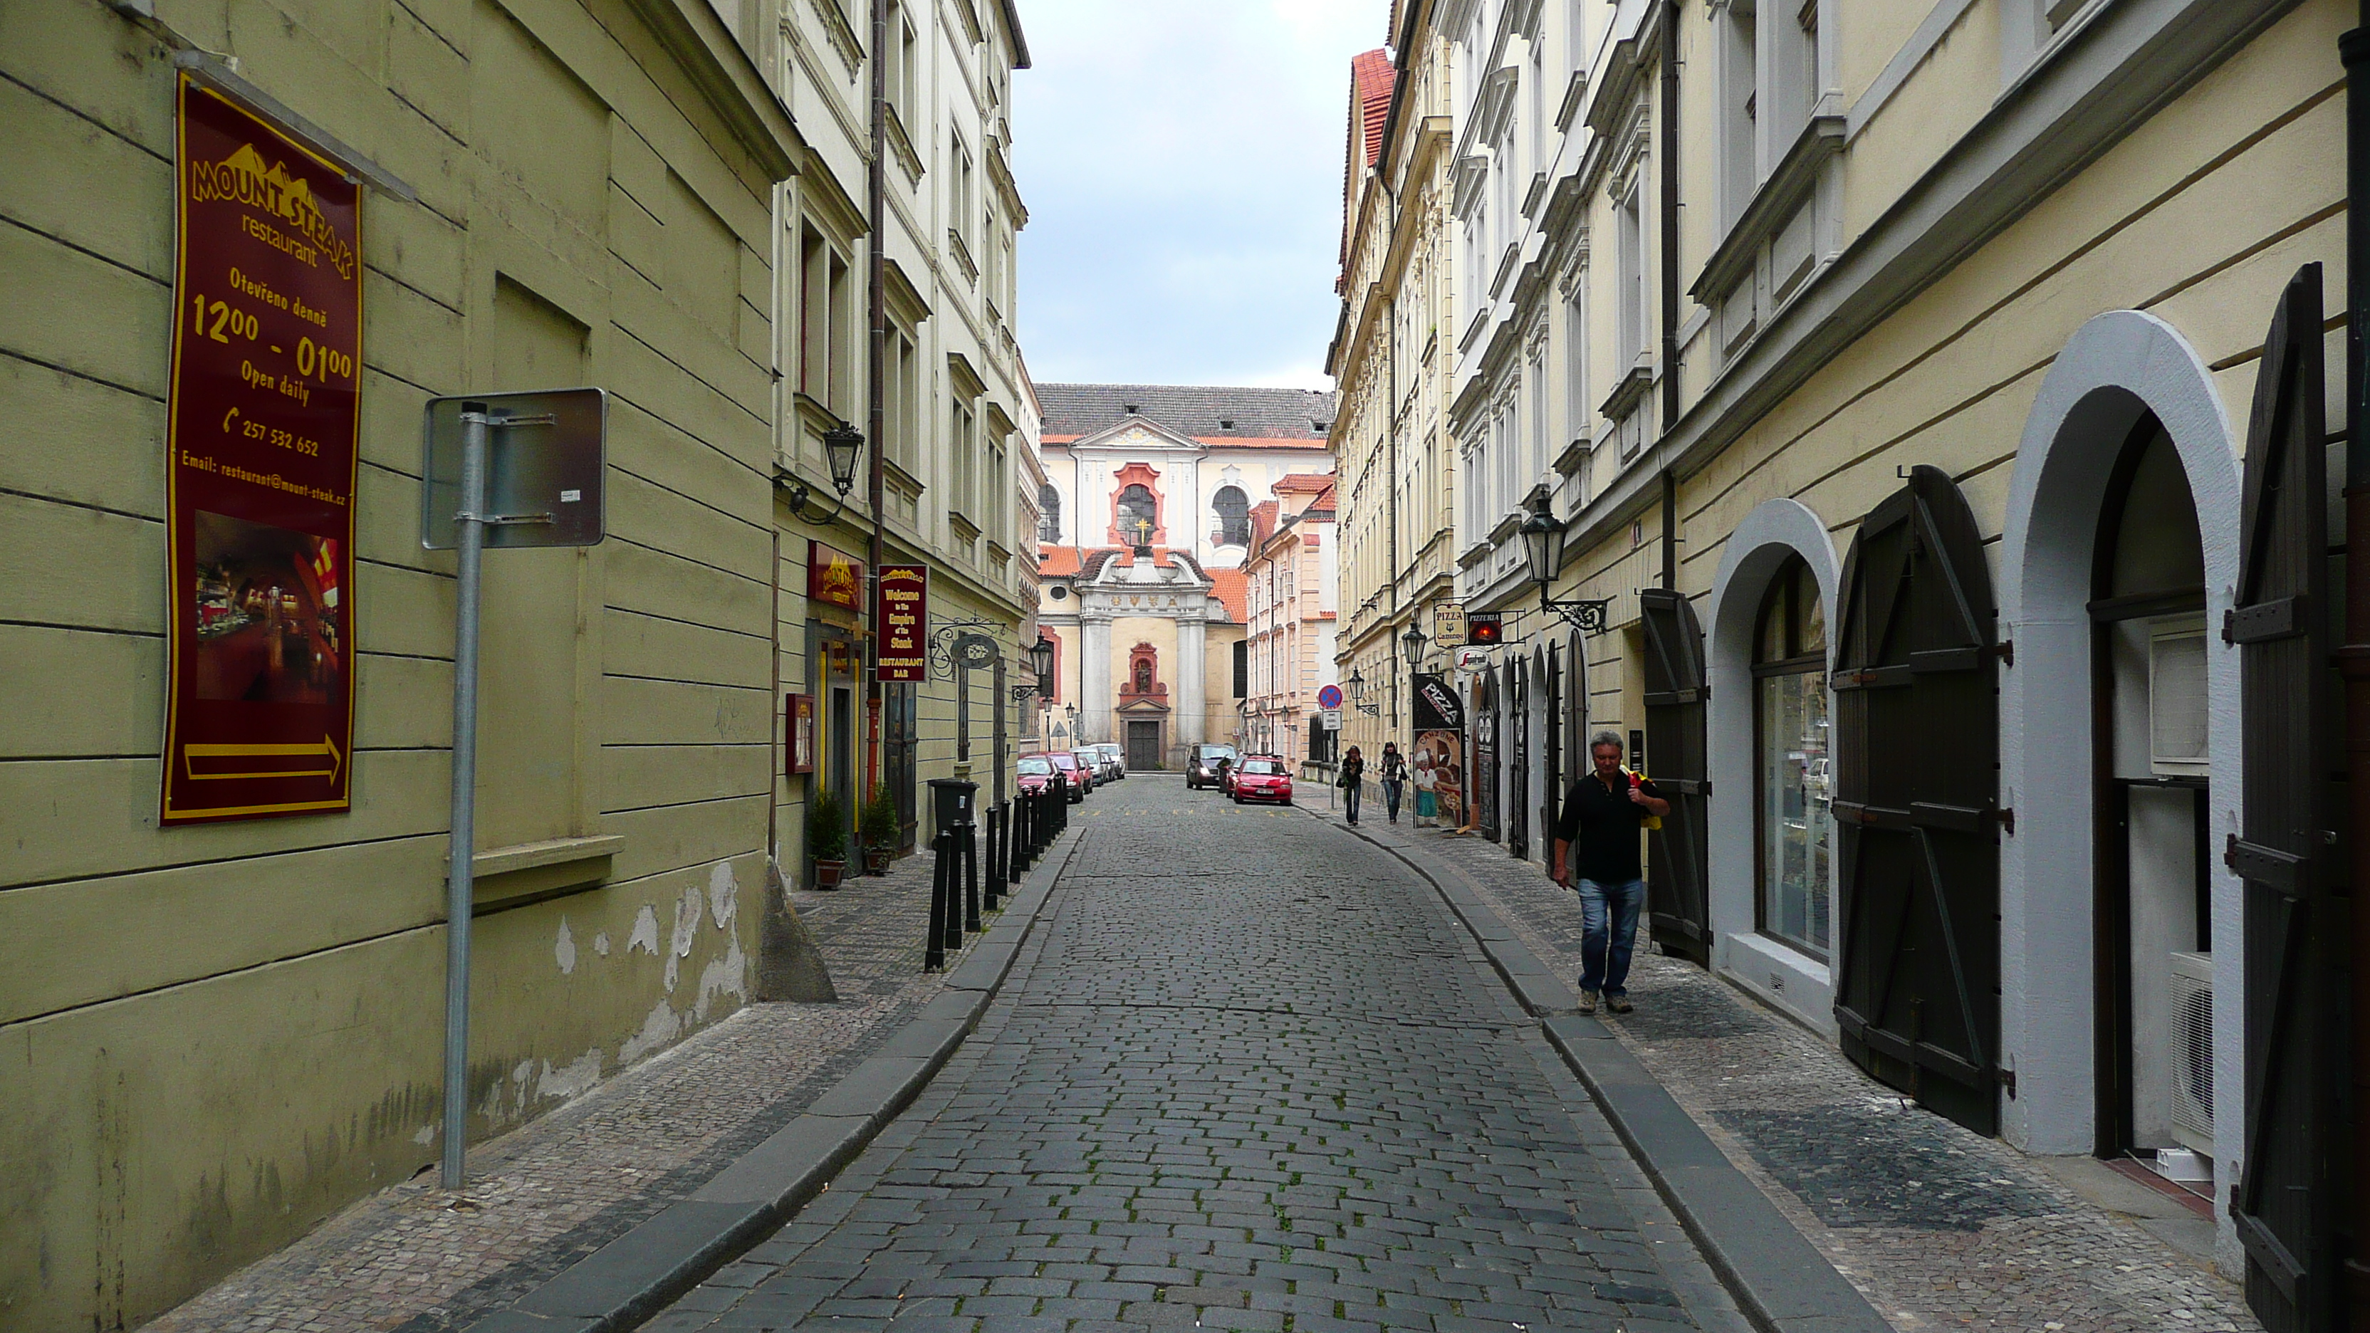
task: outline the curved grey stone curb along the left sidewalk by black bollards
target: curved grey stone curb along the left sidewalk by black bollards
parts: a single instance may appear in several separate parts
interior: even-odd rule
[[[856,1160],[972,1034],[1085,830],[1064,833],[1029,870],[988,932],[946,977],[946,991],[796,1120],[749,1148],[633,1231],[495,1309],[467,1333],[623,1333],[666,1309],[777,1231]]]

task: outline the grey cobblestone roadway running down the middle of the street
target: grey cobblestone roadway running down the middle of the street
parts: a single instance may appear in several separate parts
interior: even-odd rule
[[[922,1098],[647,1328],[1742,1328],[1427,885],[1114,795]]]

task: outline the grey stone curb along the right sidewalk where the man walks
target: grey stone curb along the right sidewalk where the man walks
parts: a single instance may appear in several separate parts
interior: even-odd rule
[[[1325,821],[1311,811],[1313,818]],[[1472,932],[1491,968],[1522,1008],[1538,1018],[1548,1044],[1571,1065],[1581,1086],[1628,1146],[1631,1157],[1654,1181],[1687,1236],[1718,1274],[1737,1309],[1763,1333],[1896,1333],[1844,1274],[1794,1229],[1778,1205],[1728,1160],[1671,1091],[1628,1046],[1595,1018],[1576,1013],[1578,996],[1479,894],[1417,863],[1405,849],[1367,837],[1358,828],[1325,821],[1351,837],[1391,854],[1431,885],[1448,911]],[[1429,852],[1415,849],[1424,861]]]

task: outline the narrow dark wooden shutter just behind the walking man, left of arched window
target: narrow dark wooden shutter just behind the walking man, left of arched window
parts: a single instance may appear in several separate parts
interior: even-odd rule
[[[1671,802],[1647,835],[1645,904],[1664,953],[1711,963],[1709,828],[1711,776],[1704,764],[1704,631],[1695,607],[1668,588],[1638,593],[1645,619],[1645,759]]]

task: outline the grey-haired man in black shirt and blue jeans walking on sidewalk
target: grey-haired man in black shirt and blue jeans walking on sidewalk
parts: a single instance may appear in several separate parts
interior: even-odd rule
[[[1628,961],[1645,906],[1638,830],[1671,814],[1654,783],[1621,766],[1621,738],[1600,731],[1588,740],[1595,771],[1571,783],[1555,821],[1555,882],[1581,889],[1581,1013],[1628,1013]]]

